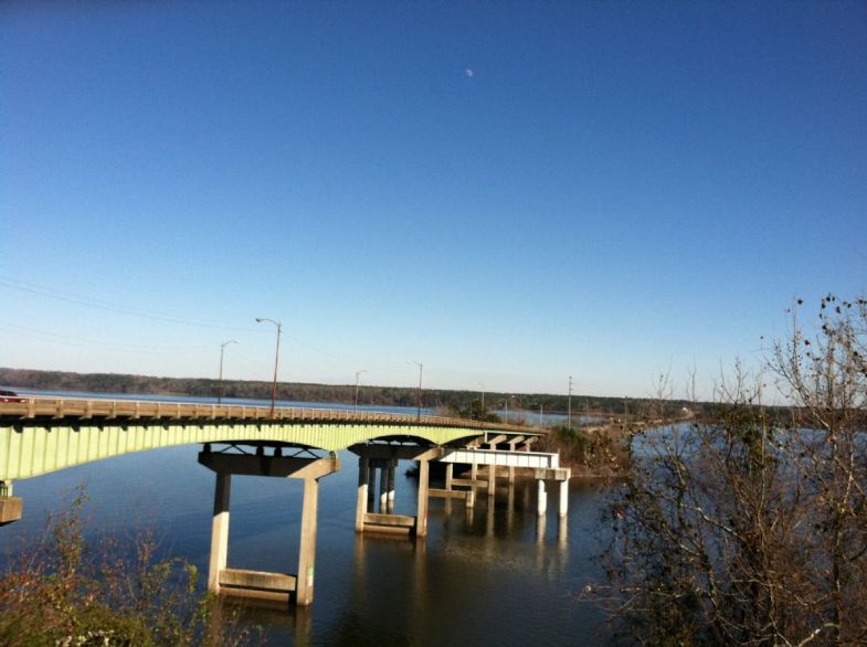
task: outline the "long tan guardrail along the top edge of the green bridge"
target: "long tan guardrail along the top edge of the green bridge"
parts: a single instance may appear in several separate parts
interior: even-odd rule
[[[191,402],[161,402],[152,400],[102,400],[82,397],[24,397],[22,402],[0,402],[0,423],[4,418],[158,418],[158,420],[209,420],[209,421],[263,421],[263,422],[357,422],[370,424],[424,424],[475,428],[479,431],[504,431],[524,434],[543,434],[543,429],[498,423],[483,423],[461,417],[440,415],[413,415],[349,411],[341,409],[313,409],[243,404],[201,404]]]

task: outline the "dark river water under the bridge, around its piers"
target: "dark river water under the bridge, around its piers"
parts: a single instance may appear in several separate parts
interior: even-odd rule
[[[414,410],[413,410],[414,411]],[[77,486],[89,498],[89,528],[125,533],[148,527],[163,548],[207,576],[214,476],[197,463],[199,446],[142,452],[15,482],[24,518],[0,528],[13,550],[62,511]],[[536,511],[536,484],[509,492],[500,478],[491,502],[479,492],[472,516],[463,501],[431,499],[426,541],[355,533],[358,462],[340,453],[339,473],[320,480],[316,590],[311,607],[246,608],[274,645],[589,645],[603,639],[600,612],[578,594],[602,579],[598,554],[604,485],[570,482],[569,515]],[[401,462],[398,513],[415,513],[416,481]],[[433,485],[433,484],[432,484]],[[434,486],[435,487],[435,486]],[[235,477],[229,565],[294,573],[302,482]],[[600,633],[602,635],[600,635]]]

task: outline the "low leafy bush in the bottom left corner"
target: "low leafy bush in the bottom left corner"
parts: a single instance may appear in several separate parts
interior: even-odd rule
[[[255,630],[197,590],[197,569],[159,558],[144,532],[130,544],[85,539],[80,490],[70,510],[0,576],[0,645],[240,645]]]

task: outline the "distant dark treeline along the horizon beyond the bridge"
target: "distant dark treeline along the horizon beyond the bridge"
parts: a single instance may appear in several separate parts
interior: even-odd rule
[[[216,397],[218,381],[204,378],[155,378],[150,375],[127,375],[120,373],[71,373],[62,371],[33,371],[28,369],[0,368],[0,385],[10,389],[34,389],[45,391],[88,391],[98,393],[191,395]],[[225,397],[253,400],[271,399],[271,382],[226,380],[223,382]],[[307,384],[281,382],[277,384],[277,399],[297,402],[340,402],[355,401],[355,384]],[[466,409],[482,397],[479,391],[447,391],[425,389],[422,393],[423,406],[443,409]],[[549,393],[485,393],[485,405],[489,410],[539,412],[546,414],[565,413],[565,395]],[[371,386],[359,390],[359,404],[388,406],[416,406],[419,390],[412,386]],[[710,403],[694,403],[681,400],[665,403],[668,413],[687,409],[695,414],[709,413]],[[572,412],[604,412],[611,415],[654,415],[658,402],[636,397],[603,397],[598,395],[572,395]]]

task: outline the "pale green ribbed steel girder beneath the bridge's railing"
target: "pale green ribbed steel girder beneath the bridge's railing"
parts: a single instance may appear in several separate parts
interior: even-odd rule
[[[25,421],[0,426],[0,486],[11,495],[14,480],[32,478],[136,452],[203,443],[285,443],[327,452],[390,436],[409,436],[432,445],[472,439],[477,428],[425,424],[124,421],[117,424],[40,424]]]

